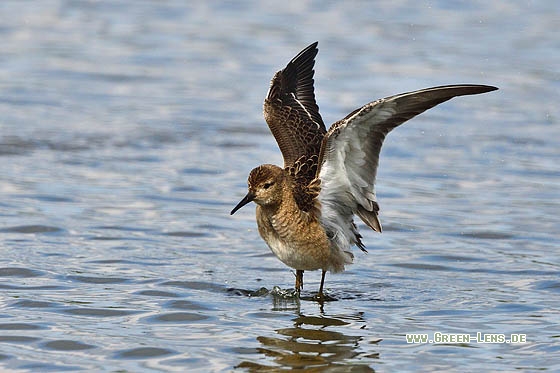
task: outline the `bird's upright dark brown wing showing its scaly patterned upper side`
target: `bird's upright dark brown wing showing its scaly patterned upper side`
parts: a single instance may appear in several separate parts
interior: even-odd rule
[[[317,52],[315,42],[274,75],[263,110],[268,127],[284,157],[285,168],[293,166],[298,160],[306,163],[315,156],[310,177],[306,176],[305,179],[315,176],[321,142],[327,132],[315,102],[313,88],[313,66]]]

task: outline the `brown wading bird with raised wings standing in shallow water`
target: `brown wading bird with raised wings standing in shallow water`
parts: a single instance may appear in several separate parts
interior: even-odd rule
[[[387,134],[453,97],[498,88],[456,84],[385,97],[357,108],[327,131],[315,100],[317,53],[314,42],[274,74],[263,114],[284,164],[251,170],[248,192],[230,214],[254,202],[260,236],[296,270],[298,296],[304,271],[321,270],[315,297],[324,300],[326,272],[344,271],[354,259],[352,246],[367,252],[354,217],[382,231],[375,182]]]

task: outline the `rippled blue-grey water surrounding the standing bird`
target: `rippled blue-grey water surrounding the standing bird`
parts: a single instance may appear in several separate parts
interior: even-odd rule
[[[560,370],[554,2],[0,4],[0,368]],[[319,40],[331,123],[448,83],[391,133],[384,233],[310,300],[229,211],[281,164],[269,79]],[[407,333],[527,343],[407,344]]]

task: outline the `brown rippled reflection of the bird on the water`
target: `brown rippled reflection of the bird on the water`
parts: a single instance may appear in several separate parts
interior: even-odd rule
[[[299,300],[280,299],[274,297],[275,309],[281,306],[297,307],[293,326],[275,330],[273,336],[259,336],[257,341],[261,344],[257,351],[265,359],[257,361],[243,361],[237,368],[246,368],[248,371],[275,370],[279,368],[306,369],[310,371],[323,371],[343,369],[344,371],[374,372],[367,363],[360,362],[364,357],[378,358],[378,353],[369,352],[363,355],[360,344],[363,337],[347,333],[345,327],[352,324],[363,323],[363,313],[358,312],[350,316],[306,316],[299,312]],[[373,343],[378,343],[380,340]]]

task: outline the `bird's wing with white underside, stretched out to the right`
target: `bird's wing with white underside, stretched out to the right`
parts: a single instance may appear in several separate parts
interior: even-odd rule
[[[381,232],[374,184],[379,152],[389,131],[455,96],[496,89],[484,85],[422,89],[370,102],[336,122],[323,140],[318,169],[318,198],[327,233],[336,236],[339,245],[359,244],[354,214]]]

